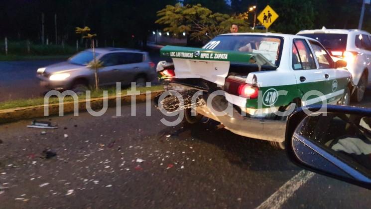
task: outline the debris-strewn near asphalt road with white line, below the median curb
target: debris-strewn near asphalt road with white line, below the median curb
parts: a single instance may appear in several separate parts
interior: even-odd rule
[[[303,172],[267,142],[215,130],[211,120],[166,127],[159,111],[136,109],[136,117],[130,106],[122,117],[115,108],[52,117],[60,128],[45,135],[29,121],[1,125],[0,209],[371,205],[371,191]],[[56,156],[42,159],[45,149]]]

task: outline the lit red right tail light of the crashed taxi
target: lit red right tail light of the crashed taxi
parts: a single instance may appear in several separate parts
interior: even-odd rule
[[[259,91],[258,87],[254,87],[251,84],[230,78],[226,80],[226,86],[228,93],[249,99],[256,99]]]

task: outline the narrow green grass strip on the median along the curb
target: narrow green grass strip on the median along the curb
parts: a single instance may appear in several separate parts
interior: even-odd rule
[[[131,88],[123,88],[121,93],[122,96],[127,95],[127,91],[131,90]],[[140,93],[145,93],[146,91],[160,91],[163,90],[162,85],[158,86],[151,86],[151,87],[137,87],[137,91],[140,91]],[[108,96],[116,96],[116,87],[111,88],[102,88],[99,91],[92,90],[91,91],[91,99],[94,98],[101,98],[103,97],[103,91],[108,91]],[[85,100],[86,95],[80,95],[80,100]],[[71,96],[66,96],[64,98],[64,102],[72,102],[73,98]],[[57,104],[59,103],[59,100],[57,97],[50,97],[49,104]],[[19,107],[30,107],[30,106],[36,106],[36,105],[43,105],[44,104],[44,97],[40,98],[32,98],[32,99],[17,99],[17,100],[9,100],[0,102],[0,110],[4,109],[13,109],[13,108],[19,108]]]

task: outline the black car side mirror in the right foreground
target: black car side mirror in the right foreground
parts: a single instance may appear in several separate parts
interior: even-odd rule
[[[371,190],[371,109],[297,109],[288,117],[285,140],[294,164]]]

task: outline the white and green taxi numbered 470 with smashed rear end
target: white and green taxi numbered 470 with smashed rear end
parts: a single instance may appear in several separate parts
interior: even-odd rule
[[[161,107],[184,111],[188,123],[205,116],[278,148],[284,148],[288,110],[348,105],[354,89],[345,61],[334,62],[318,41],[299,35],[223,34],[202,48],[165,46],[160,53],[172,60],[157,65],[165,90],[185,97],[183,103],[166,97]]]

